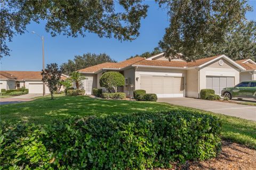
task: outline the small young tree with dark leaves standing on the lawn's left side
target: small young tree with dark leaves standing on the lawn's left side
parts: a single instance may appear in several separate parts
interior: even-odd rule
[[[42,81],[47,84],[53,99],[53,92],[58,90],[58,82],[60,81],[61,71],[57,63],[47,64],[46,69],[42,70]]]

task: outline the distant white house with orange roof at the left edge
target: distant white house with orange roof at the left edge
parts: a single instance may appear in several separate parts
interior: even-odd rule
[[[68,76],[61,74],[61,79]],[[29,94],[42,94],[43,82],[40,71],[0,71],[0,89],[19,89],[25,87]],[[49,94],[49,88],[45,86],[45,93]]]

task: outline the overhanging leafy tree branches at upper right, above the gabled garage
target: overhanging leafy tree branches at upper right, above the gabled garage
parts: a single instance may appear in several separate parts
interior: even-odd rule
[[[159,42],[167,58],[181,57],[191,61],[202,57],[204,47],[222,43],[225,35],[245,21],[251,7],[240,1],[159,1],[166,5],[170,25]]]

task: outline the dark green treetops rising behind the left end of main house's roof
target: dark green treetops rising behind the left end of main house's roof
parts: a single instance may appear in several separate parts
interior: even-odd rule
[[[77,55],[75,56],[74,60],[68,60],[67,63],[61,64],[61,71],[65,74],[70,74],[73,71],[77,71],[80,69],[84,69],[86,67],[90,67],[93,65],[105,63],[105,62],[116,62],[115,60],[111,59],[109,55],[103,54],[91,54],[86,53],[83,56]]]

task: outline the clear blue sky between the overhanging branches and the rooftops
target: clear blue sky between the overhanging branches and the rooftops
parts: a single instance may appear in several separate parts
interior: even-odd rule
[[[155,1],[147,1],[149,5],[148,16],[141,20],[140,36],[133,41],[118,41],[114,38],[99,38],[94,33],[86,37],[67,38],[59,35],[51,37],[44,30],[45,22],[31,23],[27,26],[28,32],[13,38],[8,43],[12,50],[11,56],[1,60],[1,70],[40,71],[42,69],[42,41],[31,31],[43,35],[45,39],[45,65],[50,63],[62,64],[75,55],[84,53],[106,53],[116,61],[151,51],[158,46],[159,40],[164,35],[165,28],[169,25],[166,11],[159,8]],[[248,20],[256,20],[256,1],[249,1],[253,12],[246,14]]]

